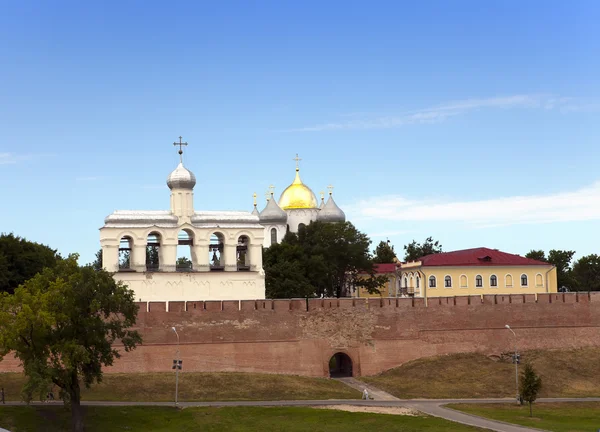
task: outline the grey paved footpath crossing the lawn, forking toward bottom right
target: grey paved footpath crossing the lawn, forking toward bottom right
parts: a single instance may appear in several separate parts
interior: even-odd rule
[[[600,398],[542,398],[538,402],[600,402]],[[226,401],[226,402],[179,402],[177,406],[187,407],[225,407],[225,406],[332,406],[332,405],[353,405],[353,406],[377,406],[377,407],[407,407],[424,412],[426,414],[441,417],[450,421],[463,423],[470,426],[476,426],[483,429],[489,429],[498,432],[539,432],[541,429],[532,429],[522,426],[516,426],[509,423],[488,420],[470,414],[465,414],[443,405],[451,403],[514,403],[512,398],[502,399],[394,399],[394,400],[357,400],[357,399],[329,399],[329,400],[292,400],[292,401]],[[100,402],[100,401],[82,401],[82,405],[89,406],[174,406],[173,402]],[[7,406],[26,405],[25,402],[6,402]],[[62,405],[62,402],[55,401],[48,404],[43,402],[34,402],[32,405]],[[0,412],[2,405],[0,405]],[[0,432],[3,432],[0,430]]]

